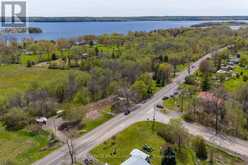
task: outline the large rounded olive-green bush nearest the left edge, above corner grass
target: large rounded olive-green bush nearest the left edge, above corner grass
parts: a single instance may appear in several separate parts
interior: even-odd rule
[[[24,128],[29,123],[29,116],[21,109],[10,109],[2,118],[7,130],[16,131]]]

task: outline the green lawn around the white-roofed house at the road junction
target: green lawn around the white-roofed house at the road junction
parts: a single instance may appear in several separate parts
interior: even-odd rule
[[[154,149],[152,163],[158,164],[160,162],[159,148],[164,145],[164,140],[157,136],[151,127],[152,123],[150,122],[135,124],[98,146],[91,153],[101,162],[108,162],[110,165],[120,165],[121,162],[129,157],[132,149],[141,149],[144,144],[148,144]],[[117,154],[111,156],[114,148],[116,148]]]

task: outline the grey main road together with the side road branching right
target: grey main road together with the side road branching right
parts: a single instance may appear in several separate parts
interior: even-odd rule
[[[224,48],[219,49],[222,51]],[[193,63],[191,74],[194,73],[198,68],[199,64],[211,57],[211,53],[205,55],[197,62]],[[154,111],[156,104],[160,103],[164,96],[170,96],[177,91],[178,86],[184,82],[185,77],[188,75],[188,71],[183,71],[178,74],[178,76],[158,93],[156,93],[152,98],[147,100],[145,103],[140,104],[140,107],[130,113],[128,116],[119,114],[107,121],[106,123],[100,125],[91,132],[85,134],[84,136],[74,140],[73,144],[75,147],[77,160],[82,160],[85,158],[89,151],[92,150],[97,145],[103,143],[107,139],[121,132],[130,125],[144,120],[152,120],[155,112],[156,120],[162,123],[168,123],[171,118],[177,117],[175,114],[164,115],[160,112]],[[232,137],[215,136],[214,131],[206,129],[202,126],[192,125],[189,123],[184,123],[184,127],[193,135],[203,136],[206,140],[213,144],[217,144],[231,152],[248,157],[248,142],[235,139]],[[58,150],[52,152],[48,156],[34,163],[34,165],[62,165],[67,164],[70,161],[67,146],[64,145]]]

